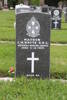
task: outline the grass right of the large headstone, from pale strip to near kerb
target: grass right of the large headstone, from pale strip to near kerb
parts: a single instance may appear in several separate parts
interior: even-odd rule
[[[51,46],[50,55],[52,76],[67,79],[67,46]]]

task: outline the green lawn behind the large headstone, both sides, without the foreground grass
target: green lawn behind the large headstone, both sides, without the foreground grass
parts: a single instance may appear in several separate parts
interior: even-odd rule
[[[0,76],[7,76],[11,66],[15,68],[15,12],[0,11]],[[62,17],[61,30],[51,30],[51,44],[67,44],[67,23]],[[55,45],[50,49],[50,73],[52,77],[67,79],[67,46]],[[57,75],[57,76],[55,76]]]

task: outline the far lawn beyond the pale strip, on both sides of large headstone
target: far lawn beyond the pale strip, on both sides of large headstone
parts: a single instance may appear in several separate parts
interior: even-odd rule
[[[14,11],[0,11],[0,40],[15,40],[14,22]],[[64,17],[61,30],[51,31],[51,42],[67,43],[67,23],[64,23]]]

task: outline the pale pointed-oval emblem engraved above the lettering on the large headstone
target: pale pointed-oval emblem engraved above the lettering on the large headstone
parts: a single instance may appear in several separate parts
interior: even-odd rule
[[[27,35],[29,37],[37,37],[40,35],[40,24],[35,17],[32,17],[26,26]]]

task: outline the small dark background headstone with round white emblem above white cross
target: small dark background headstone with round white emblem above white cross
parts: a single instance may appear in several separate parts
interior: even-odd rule
[[[62,10],[61,9],[52,9],[51,11],[51,19],[52,19],[52,25],[51,27],[54,29],[61,29],[61,15]]]

